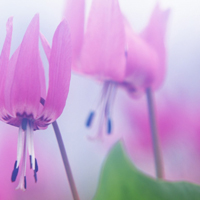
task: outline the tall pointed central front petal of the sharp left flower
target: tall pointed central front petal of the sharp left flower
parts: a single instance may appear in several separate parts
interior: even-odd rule
[[[11,87],[13,113],[36,117],[40,101],[39,15],[32,19],[24,35]]]

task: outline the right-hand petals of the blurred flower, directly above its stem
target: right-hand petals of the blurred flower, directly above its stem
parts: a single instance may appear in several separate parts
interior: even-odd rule
[[[157,4],[148,26],[140,34],[134,33],[125,21],[127,39],[126,78],[122,85],[130,92],[140,93],[146,88],[158,88],[165,77],[165,33],[169,10],[162,11]]]

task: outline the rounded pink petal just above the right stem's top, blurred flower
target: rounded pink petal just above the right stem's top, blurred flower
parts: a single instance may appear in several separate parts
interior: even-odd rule
[[[127,22],[125,22],[125,27],[127,39],[125,82],[131,86],[132,93],[137,94],[138,91],[150,87],[155,81],[158,75],[159,60],[155,49],[134,33]],[[131,90],[128,90],[131,93]]]

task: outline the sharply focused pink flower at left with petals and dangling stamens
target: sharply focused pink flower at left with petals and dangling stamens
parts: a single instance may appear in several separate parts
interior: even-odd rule
[[[46,94],[43,64],[39,53],[39,15],[30,22],[20,46],[9,60],[12,18],[7,22],[7,34],[0,60],[0,117],[19,127],[17,160],[11,180],[17,178],[17,188],[26,189],[26,157],[30,155],[30,168],[37,181],[38,164],[34,153],[33,134],[44,129],[62,113],[66,103],[71,77],[71,44],[66,20],[57,27],[48,51],[49,87]],[[41,35],[44,41],[44,36]],[[44,106],[40,103],[43,101]]]

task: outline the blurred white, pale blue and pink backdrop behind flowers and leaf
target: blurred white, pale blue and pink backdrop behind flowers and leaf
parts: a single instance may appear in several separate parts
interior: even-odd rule
[[[138,33],[147,25],[156,2],[119,1],[123,14]],[[88,16],[91,0],[86,3]],[[163,9],[171,9],[166,37],[166,80],[155,96],[166,179],[200,183],[200,2],[160,0],[159,3]],[[64,7],[65,0],[1,0],[0,49],[8,17],[14,16],[12,54],[35,13],[40,14],[40,30],[51,43]],[[41,55],[48,76],[42,48]],[[123,139],[130,158],[139,169],[152,176],[155,173],[145,97],[131,99],[119,89],[114,103],[113,133],[105,135],[102,141],[88,139],[95,135],[98,119],[92,129],[85,127],[85,121],[99,99],[101,87],[95,80],[73,73],[67,104],[58,119],[82,200],[94,196],[105,156],[119,138]],[[0,130],[0,199],[72,199],[51,126],[35,132],[38,183],[34,183],[32,171],[27,169],[26,192],[15,190],[19,177],[15,183],[10,181],[17,154],[18,129],[0,122]]]

